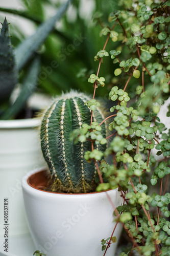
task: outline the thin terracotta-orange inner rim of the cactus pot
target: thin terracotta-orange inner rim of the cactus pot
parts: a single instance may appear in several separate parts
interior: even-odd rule
[[[110,190],[114,190],[114,189],[108,189],[108,190],[104,190],[104,191],[95,191],[95,192],[90,192],[90,193],[75,193],[75,194],[71,194],[71,193],[58,193],[58,192],[53,192],[53,191],[46,191],[46,190],[43,190],[43,189],[40,189],[40,188],[37,188],[35,185],[32,185],[30,183],[30,178],[33,177],[34,175],[38,174],[38,173],[41,173],[41,172],[46,172],[46,169],[41,169],[41,170],[38,170],[36,173],[33,173],[31,174],[28,179],[27,179],[27,183],[29,186],[31,186],[32,188],[36,189],[36,190],[39,190],[39,191],[42,191],[44,193],[51,193],[51,194],[58,194],[58,195],[91,195],[91,194],[99,194],[99,193],[104,193],[104,192],[107,192],[107,191],[110,191]],[[115,188],[116,189],[116,188]]]

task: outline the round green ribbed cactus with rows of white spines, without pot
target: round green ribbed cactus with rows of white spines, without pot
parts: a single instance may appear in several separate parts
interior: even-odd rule
[[[70,133],[80,129],[83,123],[90,124],[91,112],[84,105],[89,98],[82,93],[70,92],[54,99],[45,110],[41,124],[41,148],[48,164],[54,183],[54,191],[87,193],[94,187],[96,168],[94,162],[88,163],[84,153],[91,151],[91,142],[75,144]],[[93,120],[101,122],[102,112],[93,112]],[[105,124],[102,132],[105,136]],[[96,148],[105,150],[104,145]]]

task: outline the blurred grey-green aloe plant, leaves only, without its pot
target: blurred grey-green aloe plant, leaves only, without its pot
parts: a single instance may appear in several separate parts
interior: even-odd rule
[[[32,36],[21,42],[15,52],[11,45],[9,24],[5,18],[0,34],[0,119],[14,118],[35,91],[40,70],[40,61],[35,52],[54,29],[55,23],[63,16],[70,2],[71,0],[68,0],[53,17],[42,23]],[[28,74],[22,82],[22,90],[16,101],[10,105],[9,99],[18,82],[19,71],[33,57]]]

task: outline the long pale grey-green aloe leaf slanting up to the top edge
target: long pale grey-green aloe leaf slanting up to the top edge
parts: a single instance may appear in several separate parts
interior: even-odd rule
[[[48,34],[53,30],[55,23],[67,10],[70,2],[72,1],[68,0],[57,10],[57,13],[52,18],[48,19],[38,27],[35,34],[21,42],[21,44],[16,48],[15,55],[18,70],[22,69],[27,61],[32,57],[33,53],[43,44]]]

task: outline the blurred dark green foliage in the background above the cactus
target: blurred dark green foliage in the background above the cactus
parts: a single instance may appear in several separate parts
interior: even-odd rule
[[[50,0],[20,0],[20,6],[24,7],[24,11],[19,11],[19,8],[16,10],[2,8],[0,5],[1,22],[3,22],[5,15],[8,17],[10,12],[14,15],[11,19],[8,18],[8,22],[11,22],[9,31],[14,47],[27,37],[23,32],[23,27],[21,26],[20,28],[15,24],[15,15],[27,19],[28,26],[30,24],[36,28],[36,26],[46,20],[46,10],[51,10],[50,12],[48,11],[48,16],[52,16],[53,9],[61,5],[59,1],[55,2]],[[114,1],[108,1],[107,4],[101,0],[92,2],[94,8],[89,10],[89,12],[92,12],[91,15],[96,17],[94,22],[91,21],[91,17],[88,19],[82,17],[82,10],[80,11],[81,1],[74,1],[71,11],[67,12],[67,15],[64,15],[62,18],[61,26],[59,26],[61,28],[55,29],[38,51],[41,56],[38,90],[51,95],[60,94],[61,91],[66,92],[70,88],[92,93],[93,89],[87,80],[90,73],[96,72],[94,56],[96,55],[96,50],[102,50],[105,40],[105,38],[99,37],[101,27],[98,26],[98,17],[101,18],[102,22],[100,23],[104,27],[108,22],[108,13],[117,8]],[[96,10],[98,10],[97,13]],[[69,15],[74,17],[74,21],[70,22]],[[112,42],[108,44],[109,49],[112,49]],[[55,61],[56,68],[52,68],[53,61]],[[105,74],[108,85],[111,82],[112,76],[114,76],[111,63],[111,60],[110,63],[107,61],[107,64],[103,65],[101,72],[101,75]],[[22,70],[21,78],[25,76],[27,67]],[[105,87],[102,95],[107,94],[108,91],[109,89]],[[96,92],[96,95],[101,95],[101,88]]]

